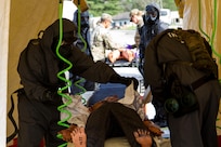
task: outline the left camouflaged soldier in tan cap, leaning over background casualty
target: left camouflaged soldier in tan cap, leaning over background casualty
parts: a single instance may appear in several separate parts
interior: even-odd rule
[[[131,54],[131,52],[128,53],[126,48],[114,42],[109,32],[112,23],[112,15],[103,13],[98,26],[93,30],[91,46],[93,59],[95,62],[106,62],[106,58],[108,58],[112,63],[114,63],[118,58],[123,58],[126,56],[128,61],[132,61],[134,57],[133,54]],[[121,53],[125,53],[126,55]]]

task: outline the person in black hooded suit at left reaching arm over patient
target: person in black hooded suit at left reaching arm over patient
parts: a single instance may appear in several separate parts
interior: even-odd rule
[[[73,45],[77,27],[63,18],[63,41],[60,54],[73,67],[69,72],[94,82],[113,82],[129,85],[134,78],[123,78],[108,65],[96,62]],[[37,147],[42,138],[47,147],[57,147],[65,143],[57,138],[62,97],[57,90],[66,83],[57,78],[57,72],[67,67],[55,54],[60,38],[60,21],[55,21],[43,32],[42,38],[30,40],[21,53],[17,71],[24,85],[24,94],[18,96],[18,147]],[[135,86],[138,88],[138,86]]]

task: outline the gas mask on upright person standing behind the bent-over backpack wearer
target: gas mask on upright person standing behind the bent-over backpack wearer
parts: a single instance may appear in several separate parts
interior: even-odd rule
[[[152,25],[155,23],[155,21],[158,17],[158,11],[156,10],[156,8],[152,6],[152,5],[147,5],[146,6],[146,13],[143,17],[143,21],[146,25]]]

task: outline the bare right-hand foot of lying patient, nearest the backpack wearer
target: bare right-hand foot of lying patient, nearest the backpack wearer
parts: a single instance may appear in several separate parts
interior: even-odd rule
[[[141,145],[141,147],[151,147],[152,146],[152,137],[150,136],[150,132],[146,130],[138,130],[133,132],[135,141]]]

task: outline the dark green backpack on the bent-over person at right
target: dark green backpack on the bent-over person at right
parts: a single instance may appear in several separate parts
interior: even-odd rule
[[[199,32],[193,29],[168,29],[159,36],[158,41],[167,34],[176,36],[177,41],[186,45],[192,56],[191,66],[208,75],[212,74],[218,78],[218,66],[214,58],[212,58],[211,46]]]

